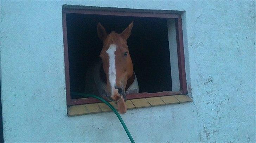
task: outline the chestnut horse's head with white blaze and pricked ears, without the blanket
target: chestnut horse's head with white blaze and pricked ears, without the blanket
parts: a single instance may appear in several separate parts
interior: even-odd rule
[[[127,81],[133,76],[133,63],[127,45],[132,27],[133,22],[120,34],[116,32],[107,34],[100,23],[97,25],[98,37],[103,42],[100,57],[107,76],[106,96],[115,102],[126,101]]]

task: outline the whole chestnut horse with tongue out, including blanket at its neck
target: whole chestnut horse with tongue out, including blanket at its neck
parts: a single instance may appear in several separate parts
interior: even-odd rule
[[[88,73],[86,75],[87,79],[93,78],[99,95],[117,104],[120,113],[126,113],[127,110],[124,103],[127,100],[126,94],[139,93],[137,77],[133,71],[127,45],[132,27],[133,22],[120,34],[114,31],[107,34],[101,23],[97,24],[97,34],[103,42],[99,56],[101,61],[94,65],[93,70],[89,70],[93,76]],[[90,85],[92,84],[88,83],[85,86],[88,89]]]

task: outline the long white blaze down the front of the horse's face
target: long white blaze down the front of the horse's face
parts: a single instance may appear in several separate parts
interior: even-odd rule
[[[111,86],[111,94],[113,95],[113,92],[115,90],[115,84],[116,84],[116,64],[115,64],[115,51],[116,51],[116,45],[111,44],[106,51],[109,56],[109,82]]]

